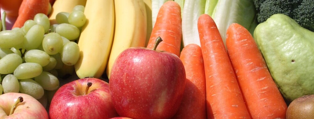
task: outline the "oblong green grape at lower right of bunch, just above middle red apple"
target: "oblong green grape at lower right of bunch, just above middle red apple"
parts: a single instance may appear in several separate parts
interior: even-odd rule
[[[45,90],[53,91],[59,87],[58,78],[49,72],[43,71],[41,75],[35,77],[35,81],[38,82]]]

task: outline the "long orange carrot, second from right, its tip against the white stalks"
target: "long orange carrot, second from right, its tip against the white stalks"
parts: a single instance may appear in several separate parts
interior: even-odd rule
[[[206,76],[207,118],[249,119],[224,42],[209,15],[198,18],[198,34]]]

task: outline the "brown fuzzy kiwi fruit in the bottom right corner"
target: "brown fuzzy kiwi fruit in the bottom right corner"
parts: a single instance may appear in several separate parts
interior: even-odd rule
[[[293,100],[287,108],[286,119],[314,119],[314,94]]]

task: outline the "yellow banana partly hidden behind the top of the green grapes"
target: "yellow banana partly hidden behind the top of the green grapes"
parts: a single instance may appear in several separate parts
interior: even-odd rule
[[[71,13],[76,5],[85,6],[86,0],[56,0],[51,8],[51,13],[49,14],[50,24],[57,24],[56,15],[59,12]]]

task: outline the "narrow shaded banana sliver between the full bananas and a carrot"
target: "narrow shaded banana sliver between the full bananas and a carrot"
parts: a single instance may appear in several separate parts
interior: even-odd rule
[[[146,7],[146,14],[147,14],[147,35],[146,35],[146,42],[145,47],[147,47],[147,44],[150,39],[150,35],[153,31],[153,23],[152,23],[152,0],[143,0]]]

